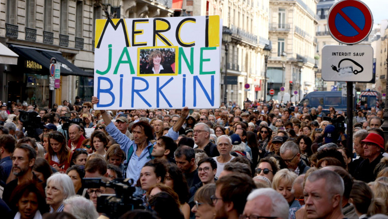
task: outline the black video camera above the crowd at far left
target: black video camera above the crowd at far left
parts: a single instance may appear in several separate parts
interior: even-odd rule
[[[36,138],[36,129],[43,129],[43,123],[41,117],[38,116],[38,112],[24,110],[19,110],[19,112],[19,120],[23,123],[27,136]]]

